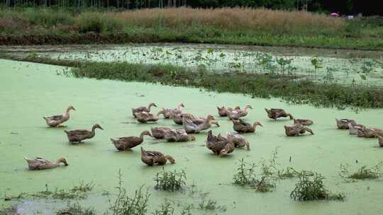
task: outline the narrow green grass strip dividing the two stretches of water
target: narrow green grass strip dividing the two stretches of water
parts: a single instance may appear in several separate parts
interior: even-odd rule
[[[1,58],[28,62],[72,66],[66,75],[76,78],[141,81],[170,86],[203,88],[218,93],[241,93],[252,98],[282,98],[291,104],[309,104],[318,108],[383,108],[383,89],[356,84],[343,86],[337,83],[317,83],[302,76],[284,74],[256,74],[231,72],[216,74],[199,67],[194,71],[172,65],[145,65],[126,62],[78,62],[43,57]]]

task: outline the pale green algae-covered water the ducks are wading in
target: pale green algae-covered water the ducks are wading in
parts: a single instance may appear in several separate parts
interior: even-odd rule
[[[173,125],[170,120],[155,124],[132,124],[131,108],[155,102],[159,107],[174,107],[179,102],[186,106],[184,112],[194,115],[216,115],[217,105],[245,105],[254,108],[245,118],[249,122],[259,120],[264,125],[255,134],[246,134],[250,151],[236,149],[230,156],[219,158],[206,149],[206,132],[196,134],[196,141],[188,143],[165,143],[145,137],[143,147],[174,156],[176,164],[165,165],[166,170],[186,170],[189,184],[201,192],[209,192],[209,198],[218,205],[225,205],[222,214],[380,214],[383,206],[382,182],[344,182],[338,175],[340,163],[350,163],[353,168],[374,165],[382,161],[382,149],[376,147],[376,139],[360,139],[334,127],[334,117],[350,117],[361,124],[383,127],[383,110],[365,110],[356,114],[349,110],[312,108],[307,105],[287,105],[278,99],[251,99],[230,93],[211,93],[194,88],[174,88],[146,83],[120,81],[96,81],[58,76],[62,67],[25,62],[0,60],[0,193],[16,195],[20,192],[38,192],[48,187],[71,188],[79,180],[93,181],[94,190],[85,205],[93,205],[98,211],[108,207],[102,192],[114,192],[118,170],[123,174],[125,187],[133,192],[140,185],[152,193],[150,211],[166,197],[182,205],[198,205],[199,197],[187,193],[171,194],[153,189],[152,178],[161,167],[148,167],[141,163],[140,152],[117,152],[110,137],[138,135],[152,126]],[[43,115],[54,115],[73,105],[66,128],[48,128]],[[313,136],[287,137],[284,124],[289,120],[268,120],[263,108],[285,108],[295,117],[310,118]],[[157,110],[157,109],[155,109]],[[221,127],[213,133],[232,131],[226,118],[218,118]],[[70,145],[63,129],[89,129],[91,124],[101,124],[104,131],[97,130],[94,139],[84,144]],[[333,192],[345,192],[345,202],[294,202],[289,193],[296,180],[283,180],[270,193],[231,185],[238,159],[249,162],[270,158],[278,147],[278,162],[281,168],[290,165],[297,170],[315,170],[322,173],[325,183]],[[23,156],[41,156],[50,160],[67,158],[67,167],[52,170],[29,171]],[[289,163],[289,157],[292,162]],[[355,163],[355,161],[358,163]],[[0,202],[1,204],[9,204]],[[49,203],[57,209],[63,203]],[[21,204],[23,214],[30,211],[50,211],[46,202]],[[50,214],[51,212],[46,212]],[[195,210],[194,214],[201,214]],[[221,214],[214,211],[211,214]],[[208,213],[209,214],[209,213]]]

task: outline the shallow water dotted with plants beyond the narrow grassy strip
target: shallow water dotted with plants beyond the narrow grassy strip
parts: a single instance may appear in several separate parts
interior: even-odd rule
[[[380,52],[368,53],[368,57],[341,57],[304,49],[270,47],[243,47],[233,45],[155,44],[155,45],[102,45],[90,47],[24,47],[9,51],[33,51],[44,57],[76,59],[96,62],[130,62],[135,64],[172,64],[196,69],[204,66],[209,71],[248,71],[255,73],[284,73],[305,76],[319,82],[342,84],[370,84],[383,86],[383,59]],[[337,50],[333,52],[338,53]],[[339,51],[345,52],[345,51]],[[348,51],[351,52],[351,51]],[[355,52],[355,51],[354,51]],[[351,55],[351,54],[349,54]],[[373,57],[374,56],[374,57]],[[380,57],[379,57],[380,56]],[[373,58],[369,58],[373,57]],[[311,60],[321,61],[314,69]],[[279,59],[289,60],[290,63]],[[362,76],[366,79],[362,79]]]

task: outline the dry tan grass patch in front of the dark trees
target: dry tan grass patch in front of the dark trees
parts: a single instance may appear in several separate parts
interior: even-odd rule
[[[126,23],[170,28],[185,25],[210,25],[224,29],[278,30],[294,32],[304,29],[338,30],[345,25],[340,18],[304,11],[272,11],[263,8],[152,8],[109,13]]]

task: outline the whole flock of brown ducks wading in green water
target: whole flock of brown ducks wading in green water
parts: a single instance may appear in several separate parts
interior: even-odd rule
[[[150,103],[148,107],[142,106],[132,109],[132,115],[140,123],[157,122],[160,115],[163,115],[165,119],[171,119],[175,124],[182,124],[182,129],[172,129],[170,127],[152,127],[151,132],[143,131],[140,136],[123,136],[116,139],[111,138],[111,142],[114,144],[118,151],[127,151],[133,149],[143,143],[144,136],[151,136],[155,139],[165,139],[170,142],[177,141],[194,141],[196,138],[192,134],[198,134],[204,130],[210,129],[212,124],[216,127],[220,125],[213,117],[208,115],[205,117],[195,117],[190,113],[183,113],[182,108],[184,104],[180,103],[177,108],[162,108],[157,114],[150,113],[152,107],[157,107],[155,103]],[[240,134],[254,133],[257,126],[263,127],[260,122],[254,122],[252,124],[245,122],[242,117],[248,115],[248,110],[252,109],[250,105],[246,105],[241,109],[239,106],[235,108],[217,107],[218,115],[220,117],[228,117],[233,122],[233,130],[236,133],[227,132],[226,136],[221,134],[213,135],[210,129],[206,139],[206,147],[210,149],[217,156],[225,156],[228,153],[232,153],[235,148],[246,148],[250,150],[250,144],[245,136]],[[70,110],[75,110],[70,105],[66,112],[62,115],[55,115],[52,117],[43,117],[45,122],[50,127],[61,127],[63,122],[70,119]],[[299,136],[309,132],[313,134],[313,131],[308,127],[313,124],[312,120],[294,119],[294,117],[287,113],[283,109],[266,109],[267,117],[272,120],[277,120],[281,117],[289,117],[289,120],[294,120],[294,124],[284,126],[285,134],[287,136]],[[368,128],[362,124],[357,124],[355,120],[349,119],[335,119],[338,129],[349,129],[350,134],[355,134],[360,137],[377,137],[379,139],[379,146],[383,146],[383,131],[376,128]],[[77,129],[73,131],[64,132],[67,134],[67,138],[70,143],[81,143],[84,139],[91,139],[95,135],[96,129],[102,129],[99,124],[94,124],[91,130]],[[28,167],[30,170],[43,170],[48,168],[56,168],[60,163],[68,165],[65,158],[60,158],[56,162],[45,160],[44,158],[28,159]],[[164,165],[169,161],[175,163],[174,158],[169,155],[165,155],[160,151],[145,151],[141,147],[141,161],[147,165]]]

